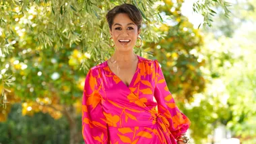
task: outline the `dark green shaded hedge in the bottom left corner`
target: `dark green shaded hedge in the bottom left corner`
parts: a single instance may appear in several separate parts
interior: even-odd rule
[[[68,143],[69,127],[65,118],[55,120],[41,112],[31,118],[21,113],[21,104],[14,104],[8,120],[0,123],[0,143]]]

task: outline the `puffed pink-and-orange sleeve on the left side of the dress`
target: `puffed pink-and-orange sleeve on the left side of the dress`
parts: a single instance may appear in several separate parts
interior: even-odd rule
[[[101,105],[102,87],[96,69],[88,72],[82,100],[82,134],[86,144],[108,143],[106,117]]]

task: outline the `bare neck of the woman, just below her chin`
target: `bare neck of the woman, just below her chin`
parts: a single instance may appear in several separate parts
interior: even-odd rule
[[[137,55],[133,51],[129,51],[129,52],[115,51],[113,56],[110,58],[110,61],[130,62],[136,59],[137,59]]]

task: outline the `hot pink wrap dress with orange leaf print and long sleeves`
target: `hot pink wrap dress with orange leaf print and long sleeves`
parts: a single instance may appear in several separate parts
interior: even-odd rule
[[[82,135],[87,144],[176,144],[190,121],[177,108],[157,60],[138,57],[129,86],[108,67],[92,67],[82,99]]]

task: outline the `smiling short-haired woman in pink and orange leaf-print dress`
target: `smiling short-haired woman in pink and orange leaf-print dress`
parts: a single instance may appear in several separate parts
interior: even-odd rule
[[[115,52],[86,76],[85,143],[187,143],[189,119],[175,105],[158,61],[133,52],[137,39],[141,42],[141,13],[123,4],[108,11],[106,19]]]

